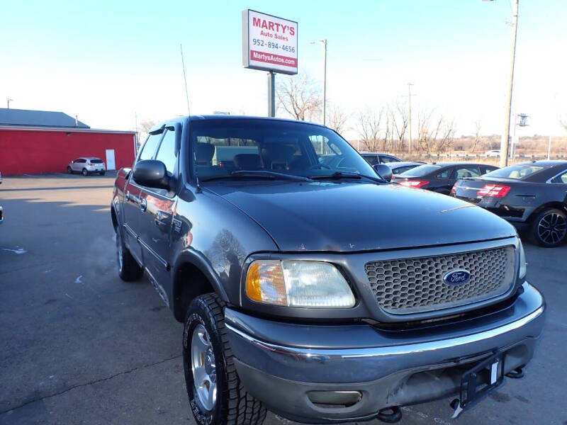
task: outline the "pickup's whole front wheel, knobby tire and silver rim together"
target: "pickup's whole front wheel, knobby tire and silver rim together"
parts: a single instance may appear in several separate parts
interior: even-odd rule
[[[191,411],[199,425],[261,425],[266,407],[244,390],[236,373],[224,308],[210,293],[187,310],[183,365]]]

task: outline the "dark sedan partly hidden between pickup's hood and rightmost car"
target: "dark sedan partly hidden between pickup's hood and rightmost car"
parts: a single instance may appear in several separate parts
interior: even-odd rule
[[[416,166],[410,171],[392,176],[392,182],[408,188],[427,189],[449,195],[451,188],[459,179],[480,177],[497,166],[474,164],[471,162],[437,162]]]

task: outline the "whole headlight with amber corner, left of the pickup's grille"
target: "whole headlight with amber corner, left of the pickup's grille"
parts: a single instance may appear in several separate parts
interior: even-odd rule
[[[254,261],[246,275],[250,300],[286,307],[350,308],[352,290],[330,263]]]

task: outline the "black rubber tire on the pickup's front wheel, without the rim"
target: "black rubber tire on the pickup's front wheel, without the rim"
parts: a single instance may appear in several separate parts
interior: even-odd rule
[[[183,364],[191,412],[198,425],[261,425],[266,418],[266,407],[245,391],[236,373],[225,328],[224,309],[224,302],[214,293],[196,297],[187,309],[183,333]],[[201,402],[193,380],[191,341],[196,329],[203,328],[209,338],[209,350],[213,353],[215,365],[212,369],[209,365],[210,370],[215,370],[213,379],[216,385],[216,399],[210,409]],[[210,377],[212,376],[211,374]]]

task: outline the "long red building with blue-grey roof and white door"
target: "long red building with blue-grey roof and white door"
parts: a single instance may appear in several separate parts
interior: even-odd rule
[[[135,132],[94,130],[61,112],[0,108],[0,172],[62,173],[77,157],[99,157],[109,170],[131,166]]]

